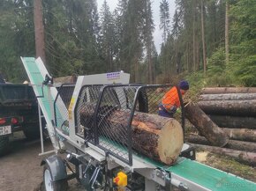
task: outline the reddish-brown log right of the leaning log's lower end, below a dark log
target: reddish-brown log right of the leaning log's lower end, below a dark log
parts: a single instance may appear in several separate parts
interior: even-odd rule
[[[230,139],[247,141],[247,142],[256,142],[256,130],[224,128],[223,131],[230,137]]]

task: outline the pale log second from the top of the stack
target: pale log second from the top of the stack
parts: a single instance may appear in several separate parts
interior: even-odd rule
[[[251,100],[256,99],[256,93],[222,93],[222,94],[201,94],[200,101],[211,100]]]

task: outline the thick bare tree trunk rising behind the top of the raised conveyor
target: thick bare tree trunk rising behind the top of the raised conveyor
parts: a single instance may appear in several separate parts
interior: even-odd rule
[[[41,0],[34,0],[34,38],[36,57],[45,63],[44,28],[42,23]]]

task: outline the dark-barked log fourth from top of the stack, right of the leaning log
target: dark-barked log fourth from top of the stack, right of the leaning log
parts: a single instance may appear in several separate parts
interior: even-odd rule
[[[219,127],[230,129],[256,129],[255,117],[236,117],[227,115],[208,115]]]

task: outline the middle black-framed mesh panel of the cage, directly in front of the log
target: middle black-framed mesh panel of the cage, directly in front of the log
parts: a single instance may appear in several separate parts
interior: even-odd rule
[[[95,143],[132,164],[131,121],[139,86],[112,85],[102,89],[94,118]]]

